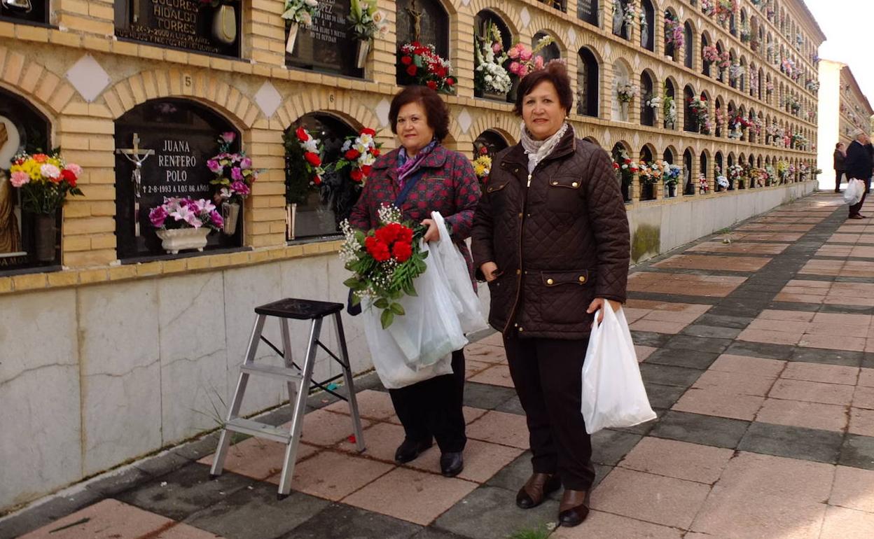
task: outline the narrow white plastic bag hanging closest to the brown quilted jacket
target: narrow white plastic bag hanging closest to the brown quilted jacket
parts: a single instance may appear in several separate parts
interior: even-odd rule
[[[440,211],[432,211],[431,218],[440,231],[440,240],[434,241],[431,247],[431,257],[434,257],[435,265],[442,270],[449,292],[453,296],[455,312],[461,322],[461,329],[470,335],[476,331],[488,328],[485,316],[482,314],[482,303],[476,295],[470,282],[468,263],[461,255],[458,246],[449,236],[446,221],[440,215]]]

